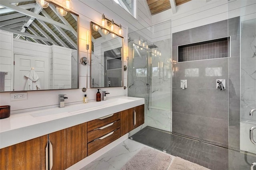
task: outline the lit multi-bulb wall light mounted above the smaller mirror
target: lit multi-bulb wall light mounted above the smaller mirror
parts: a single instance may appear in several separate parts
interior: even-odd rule
[[[122,30],[122,25],[121,24],[118,25],[117,23],[114,22],[114,20],[110,20],[110,19],[106,18],[104,14],[102,14],[102,20],[101,21],[102,21],[102,23],[101,23],[102,27],[105,27],[105,28],[109,27],[110,31],[112,31],[112,32],[114,32],[115,25],[116,25],[118,27],[119,35],[122,35],[123,30]],[[106,29],[102,29],[102,33],[107,35],[109,33],[109,31],[108,30],[105,31],[105,30]]]

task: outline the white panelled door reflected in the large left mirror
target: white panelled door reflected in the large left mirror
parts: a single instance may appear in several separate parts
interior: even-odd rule
[[[49,89],[49,59],[29,55],[14,54],[14,91],[24,90],[27,78],[32,68],[40,81],[40,90]]]

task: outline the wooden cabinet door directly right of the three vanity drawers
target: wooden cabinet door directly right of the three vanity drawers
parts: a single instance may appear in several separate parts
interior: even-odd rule
[[[120,136],[134,129],[134,109],[120,111]]]

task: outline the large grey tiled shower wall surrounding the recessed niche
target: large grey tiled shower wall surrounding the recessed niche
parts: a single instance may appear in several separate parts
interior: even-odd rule
[[[172,60],[178,61],[178,45],[227,37],[230,31],[236,35],[230,35],[230,41],[233,41],[231,51],[234,53],[240,41],[236,32],[238,23],[239,18],[235,18],[173,33]],[[232,56],[231,52],[226,58],[172,64],[172,132],[228,146],[228,94],[234,92],[229,91],[228,83],[226,90],[216,89],[216,79],[239,81],[237,56],[240,55]],[[238,76],[230,74],[232,71]],[[188,88],[182,90],[180,80],[188,80]],[[233,90],[239,88],[238,84],[233,86]],[[235,93],[232,100],[239,99],[237,95],[239,93]]]

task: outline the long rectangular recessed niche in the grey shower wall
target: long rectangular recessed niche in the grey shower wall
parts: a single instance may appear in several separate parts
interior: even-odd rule
[[[178,46],[178,62],[229,57],[230,37]]]

